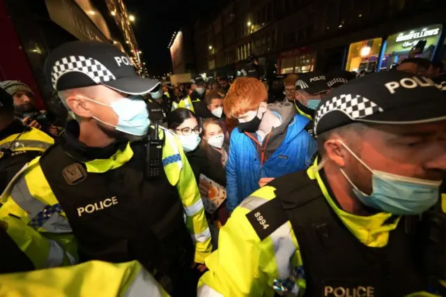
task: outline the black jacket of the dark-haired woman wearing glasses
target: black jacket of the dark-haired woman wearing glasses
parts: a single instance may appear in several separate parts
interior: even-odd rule
[[[186,153],[186,157],[192,167],[197,184],[199,184],[200,174],[204,174],[215,183],[226,187],[226,172],[220,160],[215,162],[215,158],[210,158],[210,155],[201,146],[195,151]]]

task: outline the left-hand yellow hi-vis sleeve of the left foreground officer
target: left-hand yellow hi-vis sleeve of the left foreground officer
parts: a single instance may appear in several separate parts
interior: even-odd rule
[[[75,264],[75,237],[65,213],[55,211],[59,202],[38,160],[24,167],[1,195],[0,220],[6,222],[6,232],[36,269]]]

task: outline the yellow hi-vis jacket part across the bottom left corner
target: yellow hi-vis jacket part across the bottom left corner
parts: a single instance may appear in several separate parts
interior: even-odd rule
[[[138,261],[89,261],[63,268],[0,275],[0,296],[168,297]]]

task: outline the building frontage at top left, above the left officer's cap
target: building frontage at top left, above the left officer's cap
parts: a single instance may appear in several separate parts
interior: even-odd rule
[[[115,9],[116,15],[112,13]],[[121,30],[119,24],[126,28]],[[129,56],[137,51],[122,0],[107,0],[107,5],[104,0],[0,0],[0,25],[1,39],[7,40],[0,47],[0,80],[17,79],[28,84],[39,108],[58,100],[43,66],[47,54],[59,45],[99,40],[114,43]],[[137,55],[132,59],[141,67]]]

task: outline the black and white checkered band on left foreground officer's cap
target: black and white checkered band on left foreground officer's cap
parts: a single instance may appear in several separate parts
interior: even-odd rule
[[[53,88],[56,89],[57,81],[62,75],[72,72],[84,73],[84,75],[88,75],[96,84],[116,79],[113,73],[102,65],[100,61],[86,58],[85,56],[68,56],[56,61],[54,64],[51,73]]]

